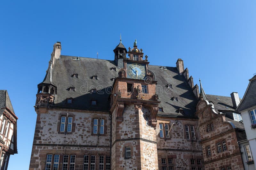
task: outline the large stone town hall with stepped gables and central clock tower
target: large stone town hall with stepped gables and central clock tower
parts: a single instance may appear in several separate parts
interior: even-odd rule
[[[30,170],[212,168],[198,116],[203,108],[201,100],[197,104],[199,87],[183,60],[176,67],[149,65],[136,41],[127,51],[120,40],[114,60],[60,51],[57,42],[38,84]],[[232,126],[224,125],[216,125],[216,133],[224,128],[236,138]],[[239,152],[233,141],[227,143],[228,152]],[[230,157],[223,167],[243,169],[243,163],[236,166],[239,158]]]

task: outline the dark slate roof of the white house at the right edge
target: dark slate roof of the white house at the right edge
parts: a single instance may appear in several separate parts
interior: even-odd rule
[[[250,82],[245,91],[244,97],[241,103],[236,108],[236,110],[241,112],[253,106],[256,107],[256,75],[250,79]]]

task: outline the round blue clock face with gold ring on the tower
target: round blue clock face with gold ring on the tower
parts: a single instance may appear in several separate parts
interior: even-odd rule
[[[133,79],[143,79],[146,75],[145,67],[137,63],[131,64],[127,68],[127,72]]]

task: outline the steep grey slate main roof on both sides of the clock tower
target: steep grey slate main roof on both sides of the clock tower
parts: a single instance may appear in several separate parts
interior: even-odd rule
[[[116,67],[116,71],[110,70],[111,67]],[[197,99],[192,89],[176,67],[166,68],[148,66],[148,70],[155,74],[156,92],[161,101],[160,107],[163,107],[164,111],[159,111],[158,115],[194,117]],[[52,68],[52,80],[57,86],[53,107],[108,111],[110,103],[106,90],[111,92],[114,83],[111,79],[117,77],[119,69],[113,60],[84,57],[74,60],[73,56],[61,55]],[[72,77],[74,73],[78,74],[78,78]],[[93,75],[97,75],[98,80],[92,79]],[[172,84],[172,89],[165,87],[168,83]],[[68,91],[68,88],[73,86],[75,91]],[[97,93],[91,94],[92,88],[96,88]],[[178,102],[172,100],[173,96],[178,98]],[[67,98],[73,98],[73,103],[67,104]],[[91,100],[97,100],[97,106],[92,106]],[[184,110],[183,114],[179,113],[180,108]]]

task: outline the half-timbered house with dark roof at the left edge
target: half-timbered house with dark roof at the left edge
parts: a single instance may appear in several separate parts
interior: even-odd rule
[[[7,170],[10,156],[17,154],[17,119],[7,90],[0,90],[0,169]]]

